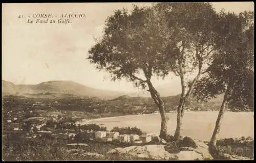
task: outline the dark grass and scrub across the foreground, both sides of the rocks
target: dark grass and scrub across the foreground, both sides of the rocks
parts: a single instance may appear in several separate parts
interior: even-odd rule
[[[226,143],[221,143],[226,142]],[[111,149],[117,147],[127,147],[135,144],[119,143],[119,142],[97,142],[88,141],[89,146],[67,146],[67,140],[57,137],[49,137],[43,134],[42,137],[35,139],[26,138],[25,133],[13,133],[9,137],[3,138],[2,158],[5,161],[41,161],[41,160],[153,160],[153,158],[139,158],[129,154],[112,153],[107,154]],[[225,140],[218,141],[218,149],[222,153],[230,155],[238,155],[253,159],[254,141],[247,143],[237,140],[227,142]],[[221,145],[220,145],[221,144]],[[142,144],[136,144],[141,146]],[[178,153],[181,144],[168,143],[166,151],[170,153]],[[184,146],[184,144],[182,144]],[[101,156],[84,155],[84,153],[98,153]]]

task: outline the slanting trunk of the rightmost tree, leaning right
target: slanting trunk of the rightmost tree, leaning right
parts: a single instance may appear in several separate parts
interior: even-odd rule
[[[214,158],[218,158],[218,156],[219,156],[219,152],[216,148],[216,143],[217,143],[217,136],[220,132],[220,126],[221,126],[221,122],[222,122],[222,119],[223,119],[223,116],[224,116],[224,112],[225,112],[226,106],[228,105],[227,95],[228,95],[228,93],[226,91],[226,93],[224,95],[224,98],[223,98],[223,101],[222,101],[222,104],[221,104],[221,108],[220,108],[218,118],[216,120],[215,129],[214,129],[214,132],[212,133],[212,136],[211,136],[211,139],[210,139],[210,142],[209,142],[209,153]]]

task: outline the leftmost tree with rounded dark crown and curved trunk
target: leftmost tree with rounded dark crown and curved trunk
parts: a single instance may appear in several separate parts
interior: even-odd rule
[[[131,13],[117,10],[105,22],[104,34],[89,50],[89,60],[112,80],[125,78],[136,87],[147,89],[161,115],[160,138],[167,138],[164,102],[152,83],[152,77],[165,77],[175,65],[179,52],[163,35],[166,21],[152,7],[134,6]],[[169,55],[165,55],[168,53]]]

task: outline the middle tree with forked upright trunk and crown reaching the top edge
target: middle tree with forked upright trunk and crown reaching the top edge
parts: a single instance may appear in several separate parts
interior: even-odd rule
[[[164,29],[168,30],[165,33],[178,49],[175,68],[170,69],[181,80],[174,134],[175,140],[178,140],[185,112],[184,105],[188,102],[194,85],[212,61],[217,13],[210,3],[159,3],[156,8],[164,13],[167,19],[167,28]]]

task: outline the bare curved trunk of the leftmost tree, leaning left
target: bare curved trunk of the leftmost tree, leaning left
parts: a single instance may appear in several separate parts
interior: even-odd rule
[[[159,93],[153,87],[153,85],[150,81],[147,82],[147,85],[148,85],[148,88],[149,88],[148,91],[150,92],[151,97],[154,99],[155,103],[157,104],[157,106],[159,108],[160,115],[161,115],[161,128],[160,128],[159,137],[161,139],[167,140],[167,121],[168,121],[168,117],[166,116],[166,113],[165,113],[164,102],[163,102]]]

